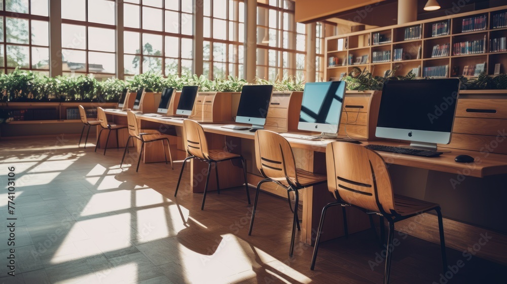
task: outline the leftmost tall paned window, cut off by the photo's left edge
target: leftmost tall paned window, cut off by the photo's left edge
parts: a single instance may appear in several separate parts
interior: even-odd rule
[[[0,70],[16,67],[49,74],[48,0],[11,0],[0,2]]]

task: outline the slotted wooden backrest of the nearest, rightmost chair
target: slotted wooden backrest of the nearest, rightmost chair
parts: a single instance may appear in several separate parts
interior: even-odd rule
[[[333,142],[325,150],[328,190],[337,199],[395,214],[391,178],[382,157],[363,146]]]

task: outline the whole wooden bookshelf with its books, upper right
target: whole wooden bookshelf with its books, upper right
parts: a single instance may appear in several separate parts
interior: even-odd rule
[[[475,77],[466,70],[482,64],[488,75],[494,75],[496,64],[507,73],[506,39],[507,6],[335,35],[325,38],[324,77],[338,80],[354,66],[374,76],[397,66],[401,76],[415,68],[417,77],[424,77],[424,70],[446,78]],[[338,63],[330,66],[331,57]],[[368,59],[357,63],[358,57]]]

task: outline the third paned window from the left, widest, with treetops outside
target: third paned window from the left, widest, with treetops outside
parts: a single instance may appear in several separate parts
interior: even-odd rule
[[[124,1],[125,75],[192,74],[193,6],[186,0]]]

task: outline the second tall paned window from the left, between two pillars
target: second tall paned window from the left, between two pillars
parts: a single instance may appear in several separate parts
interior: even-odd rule
[[[34,0],[32,0],[34,1]],[[61,0],[63,74],[116,75],[114,0]]]

